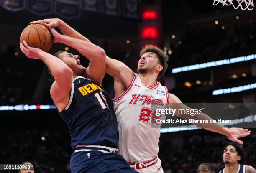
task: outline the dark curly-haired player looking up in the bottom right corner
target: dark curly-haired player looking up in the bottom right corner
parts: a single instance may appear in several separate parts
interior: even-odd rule
[[[219,173],[256,173],[252,166],[244,165],[243,149],[234,142],[228,142],[222,150],[225,168]]]

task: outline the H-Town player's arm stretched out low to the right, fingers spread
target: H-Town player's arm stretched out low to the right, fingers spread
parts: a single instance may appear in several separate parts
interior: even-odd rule
[[[186,105],[182,104],[180,99],[176,97],[174,94],[169,93],[169,98],[169,103],[172,103],[172,106],[178,107],[178,109],[191,109],[190,107],[187,107]],[[174,107],[172,108],[175,109]],[[208,122],[210,122],[211,120],[211,118],[206,114],[195,115],[193,117],[190,117],[190,115],[183,114],[177,114],[177,116],[182,117],[185,120],[188,120],[189,118],[193,118],[194,120],[208,120]],[[198,127],[204,128],[206,130],[210,130],[212,132],[217,132],[222,135],[225,135],[228,137],[229,140],[237,142],[238,144],[243,144],[243,141],[238,140],[238,138],[246,137],[250,135],[251,132],[248,129],[243,128],[226,128],[222,125],[219,125],[218,123],[194,123],[194,125],[197,125]]]

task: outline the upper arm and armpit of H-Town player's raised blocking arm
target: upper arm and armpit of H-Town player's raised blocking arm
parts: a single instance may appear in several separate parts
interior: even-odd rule
[[[108,56],[106,56],[106,71],[113,76],[115,81],[123,83],[126,87],[129,86],[134,75],[134,72],[123,62]]]

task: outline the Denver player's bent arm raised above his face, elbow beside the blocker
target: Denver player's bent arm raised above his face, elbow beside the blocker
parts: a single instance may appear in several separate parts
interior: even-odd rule
[[[54,42],[63,43],[75,48],[83,56],[90,60],[89,66],[86,69],[86,74],[90,79],[101,84],[101,81],[106,74],[105,51],[99,46],[96,46],[88,41],[61,35],[54,28],[50,28],[50,30],[54,36]]]

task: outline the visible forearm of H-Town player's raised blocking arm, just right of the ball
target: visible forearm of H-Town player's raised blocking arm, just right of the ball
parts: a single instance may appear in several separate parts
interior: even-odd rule
[[[62,20],[59,21],[58,27],[65,36],[77,38],[91,43],[91,41],[88,38],[84,37],[82,34],[74,30],[74,28],[72,28]]]

